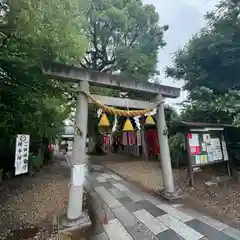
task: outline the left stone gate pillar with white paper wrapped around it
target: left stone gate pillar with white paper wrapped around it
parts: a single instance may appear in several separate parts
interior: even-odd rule
[[[80,89],[88,93],[89,83],[87,81],[81,81]],[[81,223],[85,218],[82,214],[82,201],[85,164],[87,163],[87,155],[85,153],[87,122],[88,99],[86,95],[79,92],[77,95],[76,129],[71,157],[72,171],[67,209],[67,220],[72,224],[76,221]],[[81,131],[81,134],[77,129]]]

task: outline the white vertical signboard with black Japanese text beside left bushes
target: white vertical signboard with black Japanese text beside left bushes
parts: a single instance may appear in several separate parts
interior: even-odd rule
[[[19,134],[16,137],[15,175],[28,172],[29,142],[29,135]]]

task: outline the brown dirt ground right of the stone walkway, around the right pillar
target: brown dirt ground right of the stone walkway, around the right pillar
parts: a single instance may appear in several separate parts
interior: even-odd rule
[[[139,184],[145,189],[158,192],[163,188],[162,173],[157,161],[142,161],[137,158],[111,154],[104,157],[103,164],[124,178]],[[174,170],[176,186],[189,196],[181,200],[185,205],[205,212],[235,227],[240,227],[240,184],[226,178],[226,173],[217,165],[195,173],[194,187],[189,187],[186,168]],[[225,181],[220,181],[224,179]],[[208,186],[206,182],[218,182]]]

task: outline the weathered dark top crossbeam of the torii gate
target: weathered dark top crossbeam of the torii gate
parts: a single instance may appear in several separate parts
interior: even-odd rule
[[[87,81],[92,86],[111,86],[111,88],[114,89],[141,92],[145,97],[148,96],[149,99],[155,97],[159,93],[167,98],[178,98],[180,96],[179,88],[150,82],[141,82],[134,78],[125,79],[118,75],[87,70],[75,66],[67,66],[61,63],[45,63],[42,66],[42,72],[45,75],[68,82]]]

